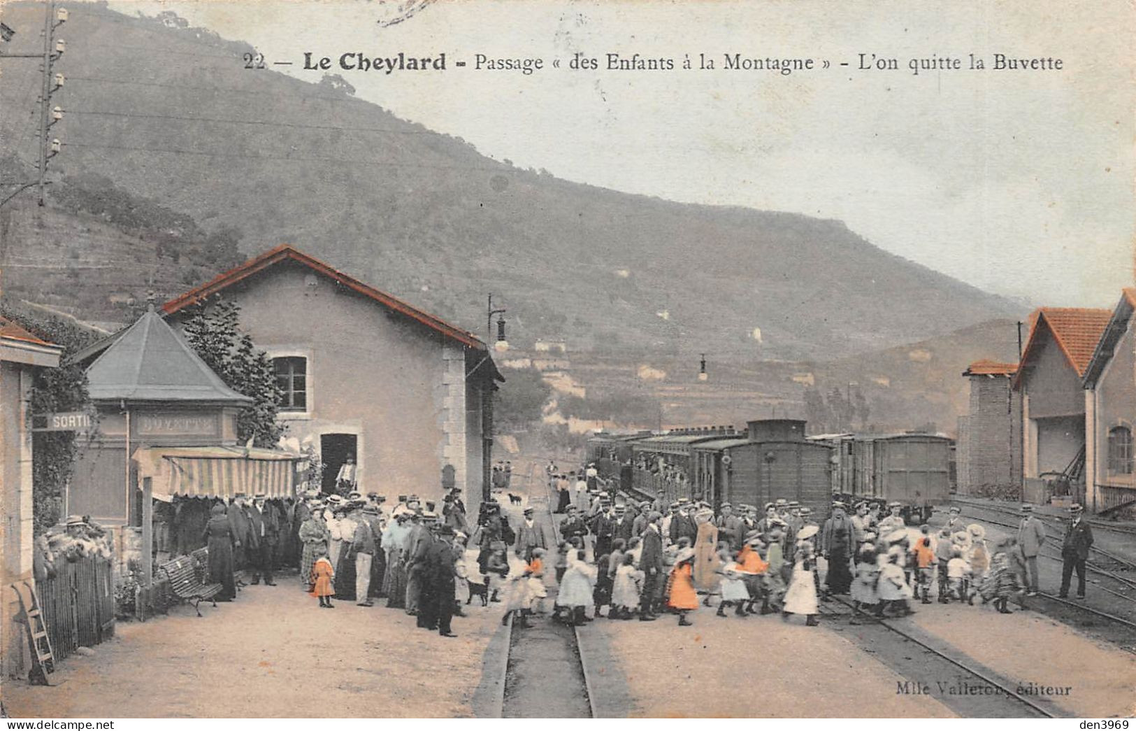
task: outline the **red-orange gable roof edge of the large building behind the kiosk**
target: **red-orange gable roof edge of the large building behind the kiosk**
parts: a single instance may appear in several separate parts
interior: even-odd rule
[[[475,350],[486,349],[485,343],[475,338],[474,335],[471,335],[469,332],[461,330],[460,327],[456,327],[450,323],[443,321],[442,318],[431,315],[429,313],[425,313],[414,307],[412,305],[409,305],[398,299],[396,297],[387,294],[386,292],[381,292],[379,290],[368,284],[364,284],[353,276],[344,274],[343,272],[340,272],[339,269],[335,269],[332,266],[324,264],[319,259],[308,256],[307,254],[303,254],[302,251],[299,251],[287,244],[281,244],[275,249],[269,249],[268,251],[261,254],[260,256],[249,259],[244,264],[235,268],[232,268],[228,272],[225,272],[224,274],[217,275],[211,281],[206,282],[201,286],[192,289],[179,297],[175,297],[174,299],[162,305],[161,308],[166,311],[166,314],[172,315],[178,311],[179,309],[184,309],[190,305],[197,304],[206,299],[207,297],[224,290],[231,284],[235,284],[236,282],[240,282],[256,274],[257,272],[261,272],[273,266],[274,264],[284,261],[286,259],[299,261],[300,264],[335,280],[336,282],[351,289],[352,291],[358,292],[364,297],[368,297],[390,309],[401,313],[410,317],[411,319],[415,319],[426,325],[427,327],[431,327],[432,330],[442,333],[448,338],[457,340],[463,346],[467,346]]]

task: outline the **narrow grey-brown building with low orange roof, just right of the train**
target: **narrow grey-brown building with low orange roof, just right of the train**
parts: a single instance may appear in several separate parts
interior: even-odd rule
[[[1013,390],[1016,363],[976,360],[962,373],[970,382],[968,413],[959,417],[958,487],[979,489],[1021,484],[1021,394]]]

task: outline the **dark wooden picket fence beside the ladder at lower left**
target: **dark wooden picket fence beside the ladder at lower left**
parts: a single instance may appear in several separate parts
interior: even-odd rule
[[[108,559],[60,559],[56,575],[37,582],[36,588],[56,659],[115,633],[115,579]]]

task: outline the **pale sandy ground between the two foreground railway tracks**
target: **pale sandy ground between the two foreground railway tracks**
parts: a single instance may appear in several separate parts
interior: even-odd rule
[[[584,628],[588,643],[609,645],[619,664],[619,683],[626,683],[632,701],[626,715],[954,715],[930,696],[897,695],[903,678],[824,622],[811,628],[800,618],[720,618],[705,608],[693,622],[678,628],[665,615],[657,622],[599,620]]]

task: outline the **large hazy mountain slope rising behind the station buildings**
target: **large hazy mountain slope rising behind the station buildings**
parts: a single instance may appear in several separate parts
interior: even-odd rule
[[[23,43],[39,18],[5,8]],[[337,84],[247,72],[250,47],[208,32],[80,5],[66,38],[57,175],[102,175],[239,230],[247,255],[293,243],[477,332],[490,291],[515,342],[735,363],[840,358],[1020,314],[841,222],[516,169]],[[34,64],[6,65],[0,153],[34,159],[35,83]],[[159,279],[162,294],[184,289]]]

